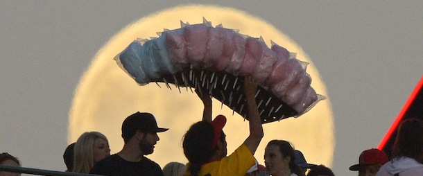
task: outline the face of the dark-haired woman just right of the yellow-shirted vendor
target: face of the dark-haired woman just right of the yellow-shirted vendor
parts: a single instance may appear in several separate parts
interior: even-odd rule
[[[290,157],[284,157],[276,145],[267,146],[264,150],[264,164],[270,175],[281,175],[289,169]]]

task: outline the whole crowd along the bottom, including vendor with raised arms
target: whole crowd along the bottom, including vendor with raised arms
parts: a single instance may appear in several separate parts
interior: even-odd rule
[[[63,154],[68,172],[96,175],[158,175],[158,176],[334,176],[324,165],[307,163],[300,150],[289,141],[275,139],[265,148],[264,165],[258,163],[254,153],[264,137],[264,130],[254,95],[257,83],[249,76],[243,80],[250,134],[232,154],[227,155],[227,141],[223,127],[226,117],[212,118],[212,98],[202,89],[196,89],[204,104],[202,120],[193,123],[184,138],[182,148],[187,164],[172,161],[163,169],[146,157],[154,152],[159,141],[157,133],[168,128],[159,127],[153,114],[136,112],[122,123],[123,148],[110,155],[105,135],[85,132],[71,143]],[[349,167],[359,176],[408,176],[423,175],[423,121],[410,118],[398,129],[392,148],[392,159],[382,150],[372,148],[361,152],[359,163]],[[21,166],[19,160],[8,153],[1,153],[0,164]],[[0,176],[19,175],[0,171]]]

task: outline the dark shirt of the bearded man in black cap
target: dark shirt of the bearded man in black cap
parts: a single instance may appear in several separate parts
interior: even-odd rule
[[[164,176],[162,168],[155,161],[143,157],[141,161],[131,162],[117,154],[98,161],[89,173],[110,176]]]

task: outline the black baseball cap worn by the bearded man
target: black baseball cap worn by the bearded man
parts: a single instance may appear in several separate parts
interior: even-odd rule
[[[128,116],[122,123],[123,139],[130,139],[137,130],[141,130],[141,132],[166,132],[169,128],[158,127],[153,114],[135,112]]]

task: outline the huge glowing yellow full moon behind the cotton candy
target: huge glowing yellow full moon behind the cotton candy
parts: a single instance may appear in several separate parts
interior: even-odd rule
[[[298,118],[264,124],[265,137],[254,155],[259,164],[264,164],[264,148],[268,141],[282,139],[301,150],[309,163],[331,166],[335,148],[334,117],[325,83],[309,56],[264,19],[218,6],[178,6],[163,10],[135,21],[114,35],[98,51],[76,87],[69,112],[69,143],[75,142],[83,132],[97,131],[105,134],[112,153],[119,152],[123,146],[123,120],[135,112],[150,112],[157,118],[159,127],[170,130],[159,133],[160,141],[155,146],[155,152],[147,157],[162,167],[171,161],[186,163],[182,136],[192,123],[201,120],[201,100],[190,89],[182,88],[180,93],[173,85],[172,89],[166,89],[166,85],[160,88],[154,83],[139,86],[118,67],[113,58],[134,39],[157,37],[156,33],[165,28],[180,28],[180,21],[199,24],[202,17],[211,21],[213,26],[222,24],[244,35],[261,36],[268,46],[272,40],[288,51],[297,53],[298,60],[310,63],[307,73],[312,78],[311,86],[318,94],[327,97]],[[223,130],[227,134],[228,153],[231,153],[248,137],[248,121],[244,121],[239,114],[233,114],[230,108],[222,106],[216,99],[213,105],[213,116],[227,116],[227,125]]]

